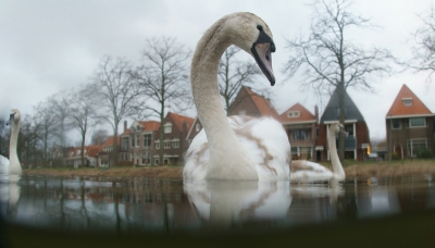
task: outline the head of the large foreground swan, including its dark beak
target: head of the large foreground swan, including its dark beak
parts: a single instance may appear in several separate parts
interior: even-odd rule
[[[271,85],[275,85],[272,52],[275,52],[272,32],[268,24],[252,13],[234,13],[226,16],[225,33],[234,45],[251,54]]]

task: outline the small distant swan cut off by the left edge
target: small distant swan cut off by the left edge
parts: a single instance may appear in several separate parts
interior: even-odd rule
[[[11,140],[9,142],[9,160],[0,156],[0,174],[21,175],[22,169],[16,154],[16,144],[20,133],[21,114],[17,109],[11,110],[10,119],[7,125],[12,123]]]

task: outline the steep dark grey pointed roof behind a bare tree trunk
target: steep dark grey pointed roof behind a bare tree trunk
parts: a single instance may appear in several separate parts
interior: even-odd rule
[[[339,108],[338,92],[337,89],[335,89],[333,96],[331,96],[330,101],[327,102],[325,111],[323,111],[322,117],[320,119],[320,123],[338,121],[339,119],[337,114],[338,108]],[[345,91],[345,108],[346,108],[345,120],[356,120],[357,122],[364,122],[364,117],[362,116],[360,110],[357,108],[357,106],[349,97],[347,91]]]

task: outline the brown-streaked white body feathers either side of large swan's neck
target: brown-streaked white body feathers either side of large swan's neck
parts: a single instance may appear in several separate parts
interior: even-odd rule
[[[228,122],[252,159],[259,181],[289,179],[290,145],[277,121],[271,117],[229,116]],[[209,163],[209,144],[202,129],[187,150],[184,178],[204,179]]]

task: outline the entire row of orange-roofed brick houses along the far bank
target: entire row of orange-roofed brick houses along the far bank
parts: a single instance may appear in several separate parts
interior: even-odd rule
[[[364,161],[370,147],[370,132],[363,115],[349,97],[345,95],[345,159]],[[249,116],[271,116],[283,124],[291,144],[294,159],[328,161],[327,128],[339,119],[338,94],[334,92],[322,114],[314,107],[313,112],[300,103],[278,114],[271,101],[249,87],[241,87],[233,104],[232,114]],[[124,122],[124,132],[120,135],[119,164],[152,165],[184,164],[184,154],[194,137],[202,126],[198,119],[169,112],[163,121],[163,144],[160,144],[157,121],[134,121],[129,126]],[[434,150],[434,114],[406,86],[400,89],[386,115],[388,149],[400,158],[414,158],[419,149]],[[86,147],[87,165],[111,166],[111,153],[114,138],[110,137],[101,147]],[[338,144],[338,142],[337,142]],[[78,151],[77,151],[78,150]],[[381,150],[381,148],[380,148]],[[78,152],[78,153],[77,153]],[[78,166],[79,149],[72,148],[66,164]]]

